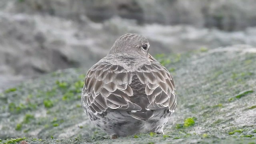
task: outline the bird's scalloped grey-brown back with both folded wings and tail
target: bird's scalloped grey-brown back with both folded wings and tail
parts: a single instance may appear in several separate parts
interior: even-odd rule
[[[174,82],[151,55],[144,58],[110,52],[88,71],[82,103],[94,114],[128,111],[136,119],[147,120],[154,116],[154,110],[175,110]]]

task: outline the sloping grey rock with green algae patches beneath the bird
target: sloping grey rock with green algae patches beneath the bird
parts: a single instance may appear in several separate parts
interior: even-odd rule
[[[252,46],[235,45],[158,55],[174,76],[178,96],[164,135],[104,138],[106,134],[91,124],[81,107],[87,69],[67,69],[0,94],[0,138],[6,142],[6,138],[25,136],[14,141],[42,144],[254,142],[255,53]]]

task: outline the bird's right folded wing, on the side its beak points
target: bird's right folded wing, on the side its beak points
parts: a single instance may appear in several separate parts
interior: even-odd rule
[[[151,55],[149,59],[151,64],[145,64],[138,72],[138,78],[146,84],[145,92],[150,103],[148,107],[151,110],[169,108],[170,112],[174,112],[177,97],[172,76]]]

